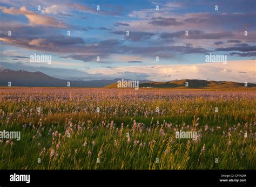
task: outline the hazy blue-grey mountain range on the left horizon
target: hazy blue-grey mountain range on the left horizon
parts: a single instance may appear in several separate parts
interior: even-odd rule
[[[93,80],[93,81],[70,81],[51,77],[40,71],[29,72],[24,70],[0,69],[0,86],[7,87],[11,82],[12,87],[105,87],[106,85],[116,83],[120,78],[113,80]],[[150,82],[147,80],[140,81]]]

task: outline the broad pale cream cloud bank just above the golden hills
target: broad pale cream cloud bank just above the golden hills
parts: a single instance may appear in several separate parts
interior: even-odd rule
[[[223,63],[198,63],[198,64],[159,64],[155,65],[152,71],[152,66],[126,66],[115,69],[97,69],[91,70],[90,73],[102,73],[104,75],[113,76],[123,74],[123,78],[130,78],[130,75],[143,74],[146,80],[154,81],[170,81],[181,79],[201,79],[213,81],[234,81],[234,82],[251,82],[255,81],[255,61],[240,60],[227,61]],[[240,73],[239,73],[240,72]],[[246,72],[246,73],[241,73]],[[129,75],[129,76],[128,76]]]

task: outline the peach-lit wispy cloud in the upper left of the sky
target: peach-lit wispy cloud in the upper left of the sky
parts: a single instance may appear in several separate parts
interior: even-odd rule
[[[38,15],[38,13],[36,12],[26,10],[25,6],[22,6],[20,9],[15,9],[13,7],[8,9],[8,8],[5,8],[4,6],[0,6],[0,9],[2,9],[3,13],[8,13],[9,15],[24,15],[26,18],[29,19],[29,25],[31,26],[47,25],[47,26],[59,27],[59,28],[66,27],[64,23],[61,23],[60,21],[58,21],[53,17]]]

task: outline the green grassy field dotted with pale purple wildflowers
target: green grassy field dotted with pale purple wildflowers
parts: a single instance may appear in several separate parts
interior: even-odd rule
[[[255,169],[255,111],[245,90],[0,88],[0,131],[21,131],[0,169]]]

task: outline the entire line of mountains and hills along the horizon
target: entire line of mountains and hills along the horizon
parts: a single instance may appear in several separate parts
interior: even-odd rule
[[[113,80],[93,80],[93,81],[71,81],[62,80],[48,76],[40,71],[29,72],[24,70],[0,70],[0,86],[7,87],[11,82],[12,87],[104,87],[117,88],[117,81]],[[129,80],[126,80],[129,81]],[[188,84],[188,87],[186,87]],[[174,88],[174,89],[256,89],[256,84],[237,83],[231,81],[206,81],[206,80],[173,80],[167,82],[154,82],[149,80],[139,80],[139,88]]]

